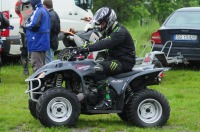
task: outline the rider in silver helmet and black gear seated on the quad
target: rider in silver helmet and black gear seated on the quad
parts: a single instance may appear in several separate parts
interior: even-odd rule
[[[113,9],[109,7],[100,8],[92,19],[94,26],[100,26],[103,32],[103,39],[79,49],[80,53],[93,52],[103,49],[108,50],[108,60],[96,66],[96,72],[106,76],[113,76],[119,73],[131,71],[135,64],[135,46],[128,30],[117,21]],[[108,109],[112,106],[108,86],[106,95],[102,102],[99,102],[94,109]]]

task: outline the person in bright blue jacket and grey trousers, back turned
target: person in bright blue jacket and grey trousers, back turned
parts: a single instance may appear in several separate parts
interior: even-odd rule
[[[33,72],[45,64],[45,52],[50,49],[50,14],[41,0],[30,0],[33,13],[26,22],[28,51],[31,53]]]

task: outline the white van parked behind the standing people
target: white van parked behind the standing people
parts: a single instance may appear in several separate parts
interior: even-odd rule
[[[43,0],[42,0],[43,1]],[[3,54],[9,56],[20,55],[20,37],[19,37],[19,17],[15,13],[15,4],[17,0],[0,0],[0,11],[9,16],[10,24],[14,30],[6,30],[2,33],[4,44]],[[91,8],[92,0],[53,0],[54,10],[58,13],[61,21],[61,30],[74,28],[83,30],[87,22],[84,17],[93,17]],[[59,41],[58,50],[64,48],[62,41]]]

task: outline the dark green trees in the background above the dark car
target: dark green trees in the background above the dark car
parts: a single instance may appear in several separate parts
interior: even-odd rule
[[[200,0],[95,0],[93,12],[109,6],[115,10],[119,21],[155,18],[162,24],[176,9],[199,5]]]

